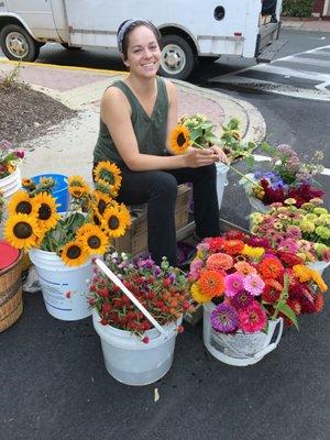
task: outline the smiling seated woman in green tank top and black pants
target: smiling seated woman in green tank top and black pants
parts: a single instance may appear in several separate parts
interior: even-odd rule
[[[167,136],[177,123],[177,92],[169,80],[156,76],[161,61],[157,29],[148,21],[128,20],[118,30],[118,47],[130,73],[102,97],[95,165],[111,161],[121,168],[119,200],[147,204],[148,251],[156,263],[165,255],[175,266],[177,185],[194,185],[197,234],[218,235],[215,162],[227,162],[227,157],[217,146],[190,147],[179,156],[167,152]]]

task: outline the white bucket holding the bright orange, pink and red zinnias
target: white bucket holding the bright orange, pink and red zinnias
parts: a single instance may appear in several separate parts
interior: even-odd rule
[[[208,351],[219,361],[235,366],[248,366],[260,362],[267,353],[275,350],[283,332],[283,319],[268,321],[266,333],[243,333],[237,331],[233,334],[217,332],[211,326],[211,312],[213,304],[204,305],[204,331],[202,339]],[[273,334],[278,326],[276,340],[272,342]]]

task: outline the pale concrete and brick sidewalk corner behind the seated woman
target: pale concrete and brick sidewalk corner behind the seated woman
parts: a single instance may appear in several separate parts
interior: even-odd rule
[[[4,73],[13,63],[0,58]],[[23,176],[41,173],[79,174],[90,182],[92,151],[99,129],[99,106],[103,90],[125,74],[80,67],[63,67],[22,63],[20,79],[35,90],[46,94],[63,105],[78,110],[78,116],[54,127],[50,134],[26,142],[29,151],[22,169]],[[266,125],[258,110],[246,101],[222,92],[175,81],[179,91],[178,116],[204,113],[217,125],[237,117],[241,121],[244,141],[260,142]]]

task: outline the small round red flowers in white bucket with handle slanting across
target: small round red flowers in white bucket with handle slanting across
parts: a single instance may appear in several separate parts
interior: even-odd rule
[[[169,266],[165,257],[158,266],[150,256],[133,258],[113,252],[106,254],[105,263],[161,326],[177,322],[184,312],[193,311],[185,273]],[[98,268],[89,292],[89,304],[97,309],[103,326],[128,330],[140,337],[152,328],[144,315]],[[147,343],[148,337],[144,337],[143,342]]]

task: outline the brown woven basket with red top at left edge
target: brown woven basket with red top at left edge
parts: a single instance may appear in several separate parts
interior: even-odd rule
[[[22,282],[20,251],[0,241],[0,332],[11,327],[22,315]]]

